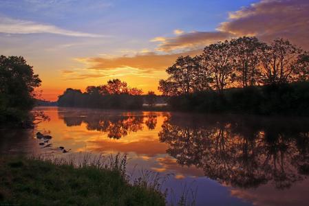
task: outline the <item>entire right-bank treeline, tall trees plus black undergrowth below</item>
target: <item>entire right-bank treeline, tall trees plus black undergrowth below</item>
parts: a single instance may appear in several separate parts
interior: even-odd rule
[[[180,56],[167,73],[158,89],[172,109],[309,115],[309,54],[283,39],[215,43]]]

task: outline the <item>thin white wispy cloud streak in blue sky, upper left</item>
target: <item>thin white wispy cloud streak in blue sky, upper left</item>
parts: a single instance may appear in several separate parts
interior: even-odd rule
[[[8,17],[0,17],[0,33],[5,34],[59,34],[64,36],[75,37],[103,37],[99,34],[89,34],[84,32],[75,32],[64,30],[54,25],[35,23],[33,21],[24,21],[19,19],[11,19]]]

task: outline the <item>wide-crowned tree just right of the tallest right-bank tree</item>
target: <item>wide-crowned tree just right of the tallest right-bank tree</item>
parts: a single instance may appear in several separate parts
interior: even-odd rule
[[[301,49],[288,40],[276,39],[262,48],[264,84],[281,84],[297,80],[297,57]]]

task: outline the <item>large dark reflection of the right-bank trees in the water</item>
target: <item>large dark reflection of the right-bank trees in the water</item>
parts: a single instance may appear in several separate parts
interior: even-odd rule
[[[308,119],[172,115],[159,137],[181,165],[235,187],[284,189],[309,171]]]

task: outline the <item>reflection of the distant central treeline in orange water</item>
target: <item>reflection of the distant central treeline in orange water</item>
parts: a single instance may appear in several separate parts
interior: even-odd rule
[[[67,126],[78,126],[86,124],[87,130],[97,130],[107,133],[107,137],[120,139],[129,133],[142,130],[145,125],[150,129],[156,127],[156,115],[138,116],[131,114],[108,114],[108,113],[58,113]],[[144,122],[144,119],[147,119]]]

